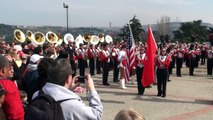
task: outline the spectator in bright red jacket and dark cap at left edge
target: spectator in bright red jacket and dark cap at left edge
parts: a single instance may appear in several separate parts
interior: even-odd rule
[[[24,109],[18,88],[14,82],[8,79],[12,75],[12,64],[5,56],[0,55],[0,84],[7,91],[2,104],[3,112],[7,120],[24,120]]]

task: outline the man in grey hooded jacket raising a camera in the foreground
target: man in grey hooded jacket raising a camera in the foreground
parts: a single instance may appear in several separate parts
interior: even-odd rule
[[[74,90],[79,82],[77,77],[72,78],[72,69],[68,59],[55,60],[48,68],[48,82],[42,88],[44,94],[50,95],[60,103],[65,120],[100,120],[103,114],[103,105],[95,90],[90,75],[85,76],[85,86],[88,89],[87,99],[89,106],[86,106]],[[38,96],[36,92],[33,96]]]

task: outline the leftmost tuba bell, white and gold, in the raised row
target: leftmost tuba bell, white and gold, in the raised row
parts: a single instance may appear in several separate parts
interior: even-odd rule
[[[25,35],[21,30],[15,29],[13,34],[14,34],[15,43],[25,42]]]

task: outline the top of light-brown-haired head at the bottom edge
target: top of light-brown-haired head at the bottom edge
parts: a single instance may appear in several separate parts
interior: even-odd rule
[[[124,109],[118,112],[114,120],[145,120],[145,117],[133,109]]]

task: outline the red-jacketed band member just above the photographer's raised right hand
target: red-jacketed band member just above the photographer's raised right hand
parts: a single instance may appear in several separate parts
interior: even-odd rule
[[[90,74],[95,75],[95,58],[96,52],[94,46],[91,44],[90,48],[87,50],[87,55],[89,59],[89,67],[90,67]]]

